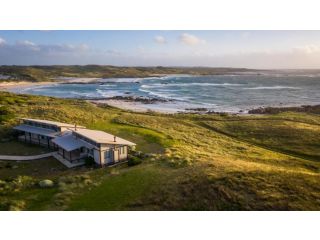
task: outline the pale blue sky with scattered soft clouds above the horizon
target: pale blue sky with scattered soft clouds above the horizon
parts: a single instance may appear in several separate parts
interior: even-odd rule
[[[0,31],[0,65],[320,68],[320,31]]]

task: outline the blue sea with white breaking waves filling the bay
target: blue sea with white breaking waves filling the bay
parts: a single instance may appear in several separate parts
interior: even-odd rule
[[[94,84],[35,86],[15,91],[63,98],[156,97],[171,101],[148,104],[148,108],[154,105],[178,111],[201,107],[239,112],[261,106],[320,104],[318,75],[166,76],[98,81]]]

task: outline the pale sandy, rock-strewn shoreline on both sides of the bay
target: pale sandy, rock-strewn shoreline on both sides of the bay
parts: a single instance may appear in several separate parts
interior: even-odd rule
[[[73,79],[74,81],[81,80],[82,83],[90,83],[92,81],[96,81],[96,78],[77,78]],[[69,81],[66,81],[67,83]],[[46,82],[28,82],[28,81],[4,81],[0,82],[0,91],[8,91],[13,93],[19,93],[19,90],[23,90],[24,88],[33,87],[33,86],[45,86],[45,85],[53,85],[53,84],[63,84],[65,81],[46,81]],[[72,82],[70,82],[72,83]],[[78,82],[77,82],[78,83]],[[16,90],[16,91],[13,91]],[[18,91],[17,91],[18,90]],[[72,98],[72,99],[81,99],[81,98]],[[133,112],[158,112],[162,114],[179,114],[179,113],[189,113],[189,114],[232,114],[232,115],[253,115],[253,114],[276,114],[281,112],[306,112],[306,113],[316,113],[320,114],[320,104],[315,103],[313,105],[296,105],[296,106],[257,106],[247,110],[239,110],[237,112],[231,111],[215,111],[210,110],[208,108],[201,107],[186,107],[186,108],[173,108],[172,106],[168,106],[169,102],[172,100],[165,100],[162,98],[143,98],[136,96],[113,96],[109,98],[101,98],[101,99],[86,99],[83,98],[81,100],[85,100],[91,102],[96,105],[108,105],[111,107],[133,111]]]

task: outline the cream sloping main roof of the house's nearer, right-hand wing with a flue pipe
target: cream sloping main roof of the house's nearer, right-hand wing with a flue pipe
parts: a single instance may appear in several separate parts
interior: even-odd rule
[[[99,131],[99,130],[90,130],[90,129],[77,129],[77,131],[72,130],[73,132],[89,138],[90,140],[96,142],[96,143],[105,143],[105,144],[111,144],[111,145],[128,145],[128,146],[134,146],[136,145],[133,142],[127,141],[123,138],[116,137],[116,141],[114,141],[114,135]]]

